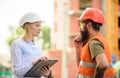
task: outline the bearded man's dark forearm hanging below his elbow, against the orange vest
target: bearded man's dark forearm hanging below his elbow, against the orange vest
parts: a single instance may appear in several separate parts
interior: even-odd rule
[[[103,67],[103,68],[96,67],[96,71],[93,78],[103,78],[106,69],[107,67]]]

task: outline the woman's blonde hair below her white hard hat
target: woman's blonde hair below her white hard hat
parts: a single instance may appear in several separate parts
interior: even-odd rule
[[[23,39],[25,41],[29,41],[32,40],[32,33],[31,33],[31,24],[30,23],[26,23],[24,26],[24,35],[23,35]]]

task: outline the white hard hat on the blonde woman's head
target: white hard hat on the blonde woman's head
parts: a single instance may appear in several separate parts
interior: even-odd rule
[[[37,21],[42,21],[41,18],[37,14],[27,13],[21,18],[21,20],[19,22],[19,27],[22,27],[27,22],[33,23],[33,22],[37,22]]]

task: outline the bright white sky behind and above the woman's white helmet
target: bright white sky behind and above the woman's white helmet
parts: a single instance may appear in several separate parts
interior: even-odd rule
[[[10,36],[8,28],[17,28],[20,18],[27,12],[34,12],[46,25],[53,25],[53,0],[0,0],[0,54],[10,53],[6,44]]]

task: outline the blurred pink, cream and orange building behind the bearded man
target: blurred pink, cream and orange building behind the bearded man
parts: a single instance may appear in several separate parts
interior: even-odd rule
[[[68,72],[67,76],[62,76],[63,73],[56,73],[57,78],[75,78],[76,76],[77,65],[73,46],[73,38],[79,33],[76,18],[79,18],[87,7],[103,11],[105,15],[103,33],[108,39],[112,54],[115,56],[113,60],[119,59],[120,0],[54,0],[54,26],[51,30],[53,50],[50,55],[55,57],[55,54],[59,54],[58,57],[56,56],[56,58],[62,59],[58,65],[59,71]],[[61,62],[65,65],[62,65]]]

